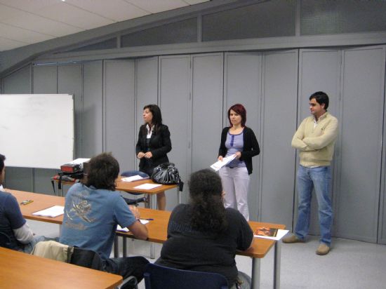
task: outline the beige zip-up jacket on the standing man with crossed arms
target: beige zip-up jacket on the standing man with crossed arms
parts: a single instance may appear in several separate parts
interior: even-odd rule
[[[338,136],[338,119],[328,112],[320,116],[314,128],[314,116],[305,118],[291,145],[300,150],[300,165],[305,167],[330,166],[334,144]]]

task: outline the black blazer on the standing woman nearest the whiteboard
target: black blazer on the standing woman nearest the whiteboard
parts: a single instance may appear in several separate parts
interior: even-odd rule
[[[135,146],[135,154],[139,152],[147,152],[146,146],[146,125],[140,127],[138,133],[138,142]],[[167,153],[171,151],[171,133],[169,132],[168,126],[162,124],[155,132],[153,131],[152,137],[150,137],[149,143],[150,152],[152,152],[152,166],[155,168],[161,163],[168,163],[169,159]],[[140,170],[145,166],[145,159],[140,159]]]

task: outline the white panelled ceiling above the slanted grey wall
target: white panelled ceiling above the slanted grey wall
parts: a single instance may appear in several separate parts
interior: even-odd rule
[[[0,0],[0,51],[209,0]]]

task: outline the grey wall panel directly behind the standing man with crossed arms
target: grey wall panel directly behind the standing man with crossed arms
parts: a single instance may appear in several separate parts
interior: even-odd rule
[[[309,98],[316,91],[324,91],[330,100],[328,112],[338,118],[339,112],[339,97],[340,97],[340,52],[338,50],[300,50],[299,61],[299,100],[298,100],[298,128],[303,119],[310,116]],[[293,133],[295,133],[293,130]],[[293,135],[292,135],[293,136]],[[291,136],[291,140],[292,140]],[[290,140],[290,144],[291,144]],[[338,156],[338,145],[335,144],[335,153],[333,159]],[[299,152],[296,152],[296,171],[299,165]],[[331,162],[331,173],[334,175],[334,161]],[[296,175],[294,175],[296,179]],[[336,182],[333,177],[333,182]],[[333,187],[331,185],[331,187]],[[338,192],[337,192],[338,194]],[[331,192],[331,197],[334,198],[334,191]],[[294,205],[294,225],[298,218],[298,189],[295,190],[295,205]],[[317,198],[312,193],[310,234],[319,234],[319,217]]]

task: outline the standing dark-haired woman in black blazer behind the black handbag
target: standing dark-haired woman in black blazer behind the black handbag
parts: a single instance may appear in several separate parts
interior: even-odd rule
[[[162,124],[161,109],[157,105],[145,105],[143,108],[145,124],[140,127],[135,154],[140,159],[140,171],[151,176],[155,167],[168,163],[171,151],[171,133],[168,126]],[[157,194],[159,210],[165,210],[165,192]]]

